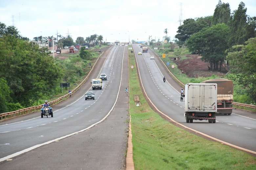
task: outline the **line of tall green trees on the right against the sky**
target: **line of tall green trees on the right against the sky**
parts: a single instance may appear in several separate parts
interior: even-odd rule
[[[219,0],[212,16],[184,20],[175,38],[179,47],[200,54],[211,70],[221,70],[226,61],[227,76],[256,101],[256,17],[246,11],[241,2],[231,13],[229,4]]]

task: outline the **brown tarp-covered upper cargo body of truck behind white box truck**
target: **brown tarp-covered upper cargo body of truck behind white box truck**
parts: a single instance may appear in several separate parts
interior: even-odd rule
[[[218,78],[205,80],[201,83],[216,83],[218,85],[217,94],[233,94],[233,82],[231,80]]]

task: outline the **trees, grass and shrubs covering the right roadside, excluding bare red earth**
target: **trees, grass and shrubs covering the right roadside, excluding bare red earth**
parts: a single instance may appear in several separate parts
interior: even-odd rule
[[[212,78],[227,78],[234,84],[234,101],[245,104],[256,104],[256,16],[248,16],[245,3],[231,13],[229,3],[219,0],[212,16],[188,18],[178,27],[175,43],[162,43],[151,40],[151,47],[159,47],[157,53],[164,63],[170,63],[169,69],[184,84],[199,83]],[[169,42],[167,28],[163,38]],[[150,40],[150,37],[149,37]],[[210,71],[223,71],[226,75],[211,77],[188,77],[182,74],[173,59],[188,59],[186,55],[199,54],[204,62],[209,63]],[[189,61],[189,60],[188,60]],[[172,69],[171,65],[175,68]],[[242,87],[242,88],[241,88]]]

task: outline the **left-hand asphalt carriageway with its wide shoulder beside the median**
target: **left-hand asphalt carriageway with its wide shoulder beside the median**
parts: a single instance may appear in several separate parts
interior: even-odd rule
[[[38,118],[36,116],[40,113],[34,113],[1,123],[0,158],[78,132],[110,114],[105,121],[14,157],[12,161],[3,161],[1,169],[123,168],[129,119],[128,97],[124,93],[128,85],[128,68],[123,68],[128,67],[127,51],[127,47],[113,47],[101,56],[89,80],[106,73],[108,80],[103,81],[102,90],[92,90],[90,81],[87,81],[71,99],[53,106],[53,118]],[[120,84],[121,74],[123,81]],[[95,93],[95,100],[84,100],[88,90]]]

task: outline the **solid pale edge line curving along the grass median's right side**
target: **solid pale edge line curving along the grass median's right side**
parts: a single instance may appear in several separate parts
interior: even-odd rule
[[[133,47],[133,46],[132,46],[132,47]],[[133,51],[135,52],[134,49],[133,49]],[[137,68],[138,68],[138,72],[139,72],[139,64],[138,64],[138,62],[137,62],[136,53],[135,53],[135,59],[136,59],[136,64],[137,64]],[[255,151],[252,151],[252,150],[249,150],[249,149],[245,149],[245,148],[242,148],[242,147],[240,147],[240,146],[236,146],[236,145],[231,144],[231,143],[228,143],[228,142],[224,142],[224,141],[222,141],[222,140],[220,140],[220,139],[214,138],[214,137],[212,137],[212,136],[210,136],[210,135],[207,135],[207,134],[205,134],[205,133],[202,133],[202,132],[200,132],[200,131],[197,131],[197,130],[195,130],[195,129],[192,129],[192,128],[190,128],[190,127],[187,127],[187,126],[185,126],[185,125],[183,125],[183,124],[181,124],[181,123],[179,123],[179,122],[176,122],[175,120],[173,120],[172,118],[170,118],[168,115],[166,115],[166,114],[164,114],[163,112],[161,112],[161,111],[157,108],[157,106],[155,106],[155,104],[153,104],[153,102],[150,100],[150,98],[148,97],[148,95],[147,95],[147,93],[146,93],[146,91],[145,91],[145,88],[144,88],[144,86],[143,86],[143,84],[142,84],[140,72],[139,72],[139,78],[140,78],[140,83],[141,83],[141,85],[142,85],[143,91],[144,91],[146,97],[148,98],[149,102],[155,107],[155,109],[156,109],[159,113],[161,113],[162,115],[164,115],[165,117],[167,117],[167,118],[168,118],[169,120],[171,120],[172,122],[174,122],[174,123],[176,123],[176,124],[179,124],[180,126],[186,128],[186,129],[189,129],[189,130],[191,130],[191,131],[193,131],[193,132],[199,133],[199,134],[201,134],[201,135],[203,135],[203,136],[205,136],[205,137],[207,137],[207,138],[210,138],[210,139],[212,139],[212,140],[215,140],[215,141],[217,141],[217,142],[221,142],[221,143],[224,143],[224,144],[226,144],[226,145],[232,146],[232,147],[234,147],[234,148],[237,148],[237,149],[243,150],[243,151],[245,151],[245,152],[249,152],[249,153],[252,153],[252,154],[255,154],[255,155],[256,155],[256,152],[255,152]]]

